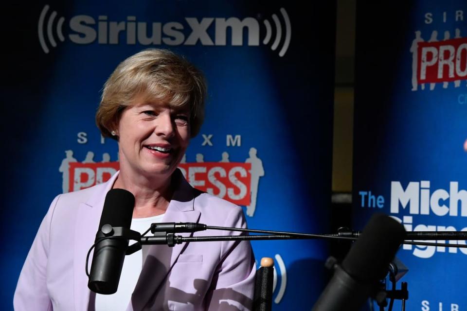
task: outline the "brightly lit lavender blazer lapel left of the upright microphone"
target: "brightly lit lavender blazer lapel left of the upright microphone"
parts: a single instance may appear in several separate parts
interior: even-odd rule
[[[76,311],[94,310],[94,306],[89,305],[90,290],[88,289],[88,276],[85,273],[86,255],[92,244],[94,244],[107,192],[112,188],[117,176],[118,173],[115,173],[107,183],[96,187],[89,199],[84,203],[80,203],[78,207],[74,227],[73,259],[73,291]],[[88,272],[91,267],[92,254],[91,251]]]

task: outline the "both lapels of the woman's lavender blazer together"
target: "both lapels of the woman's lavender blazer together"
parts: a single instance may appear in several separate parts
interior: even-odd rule
[[[74,301],[76,311],[94,310],[94,306],[89,305],[90,290],[88,289],[88,276],[84,271],[86,255],[94,243],[107,192],[112,189],[118,173],[115,173],[106,183],[95,186],[89,199],[78,207],[74,232]],[[162,222],[197,223],[200,216],[200,212],[194,208],[197,190],[190,186],[178,169],[172,174],[171,182],[172,187],[174,187],[174,193],[162,218]],[[192,234],[181,233],[180,235],[188,237]],[[148,245],[143,248],[144,266],[133,293],[133,296],[137,297],[137,299],[134,299],[137,305],[133,303],[134,310],[143,309],[146,304],[150,303],[151,298],[156,296],[157,290],[160,288],[165,276],[177,261],[186,244],[177,244],[174,247]],[[154,269],[154,261],[157,261],[157,264],[161,265],[162,269]],[[88,269],[90,269],[91,262],[92,252],[89,258]]]

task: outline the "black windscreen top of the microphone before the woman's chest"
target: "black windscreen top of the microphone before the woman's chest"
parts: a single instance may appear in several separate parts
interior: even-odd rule
[[[99,229],[109,224],[113,227],[130,228],[135,196],[125,189],[112,189],[107,192],[104,208],[102,209]]]

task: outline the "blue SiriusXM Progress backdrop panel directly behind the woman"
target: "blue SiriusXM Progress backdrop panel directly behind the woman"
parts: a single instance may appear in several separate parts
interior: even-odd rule
[[[250,228],[328,232],[333,1],[306,9],[279,0],[40,2],[15,9],[22,12],[12,29],[17,44],[3,65],[10,78],[4,305],[54,196],[105,182],[118,170],[117,143],[101,137],[94,115],[112,70],[146,48],[185,55],[208,81],[205,122],[180,164],[187,180],[243,207]],[[325,285],[326,243],[252,244],[258,261],[275,260],[273,309],[311,308]]]

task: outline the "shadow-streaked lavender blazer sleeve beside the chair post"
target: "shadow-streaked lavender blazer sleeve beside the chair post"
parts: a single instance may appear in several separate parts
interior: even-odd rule
[[[235,207],[227,216],[226,227],[246,228],[243,210]],[[226,235],[238,235],[238,232]],[[209,311],[251,310],[253,304],[256,264],[250,241],[224,241],[221,260],[207,296]]]

